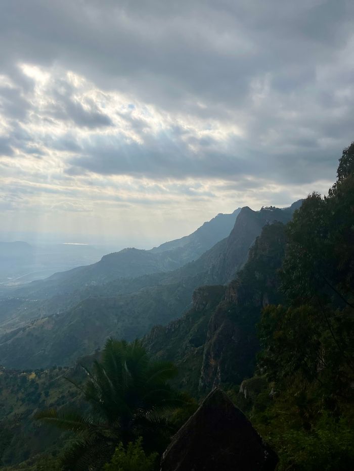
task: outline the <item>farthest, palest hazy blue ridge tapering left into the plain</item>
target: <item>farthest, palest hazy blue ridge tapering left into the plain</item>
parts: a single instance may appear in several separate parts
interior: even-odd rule
[[[93,265],[55,273],[46,280],[21,287],[12,293],[12,296],[46,299],[85,287],[103,285],[118,278],[136,278],[175,270],[197,259],[219,240],[227,237],[240,211],[241,208],[238,208],[232,214],[218,214],[189,236],[166,242],[151,250],[125,248],[104,255]]]

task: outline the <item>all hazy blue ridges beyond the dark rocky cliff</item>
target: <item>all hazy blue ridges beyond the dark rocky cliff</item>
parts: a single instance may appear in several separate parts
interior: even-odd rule
[[[156,324],[165,325],[181,317],[195,288],[232,280],[262,227],[274,221],[286,223],[297,205],[260,211],[244,207],[233,215],[218,215],[183,238],[186,243],[182,246],[180,240],[163,244],[170,248],[165,251],[160,251],[161,246],[151,251],[125,249],[104,256],[90,267],[31,283],[27,301],[8,311],[2,320],[3,332],[7,330],[0,336],[2,363],[20,369],[69,365],[77,356],[99,348],[108,336],[131,340]],[[228,237],[199,258],[167,271],[162,260],[164,264],[167,260],[182,263],[182,257],[188,259],[203,250],[217,237],[215,226],[219,222],[219,234],[225,234],[231,216],[236,221]],[[144,270],[158,269],[158,273],[143,274]],[[123,273],[130,278],[122,278]],[[134,273],[141,276],[134,277]]]

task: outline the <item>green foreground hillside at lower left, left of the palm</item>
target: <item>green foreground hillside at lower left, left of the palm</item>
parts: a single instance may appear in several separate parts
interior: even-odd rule
[[[45,430],[33,421],[37,408],[77,407],[79,394],[64,377],[73,370],[52,367],[50,370],[15,371],[0,368],[0,453],[2,464],[20,462],[39,454],[55,456],[68,434]],[[80,373],[77,372],[76,376]]]

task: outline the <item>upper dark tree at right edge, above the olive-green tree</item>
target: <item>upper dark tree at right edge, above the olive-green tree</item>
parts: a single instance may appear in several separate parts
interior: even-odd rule
[[[337,181],[308,196],[287,227],[284,288],[295,304],[354,304],[354,143],[343,150]]]

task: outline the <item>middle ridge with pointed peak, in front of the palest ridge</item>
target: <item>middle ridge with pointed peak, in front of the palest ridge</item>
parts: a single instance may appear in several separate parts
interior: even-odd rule
[[[287,222],[291,216],[292,208],[255,212],[244,207],[229,237],[178,270],[125,280],[123,290],[121,280],[93,287],[92,291],[85,290],[87,298],[76,305],[80,292],[59,296],[58,303],[52,305],[58,311],[37,306],[30,323],[25,323],[24,313],[21,327],[0,336],[2,363],[11,368],[72,364],[77,356],[91,353],[111,335],[131,340],[156,324],[180,318],[190,307],[195,288],[232,279],[262,227],[276,220]],[[65,302],[68,308],[61,311],[60,303]],[[35,319],[38,315],[40,318]]]

